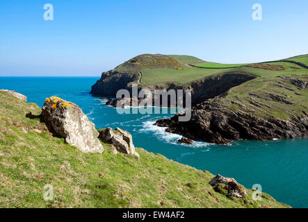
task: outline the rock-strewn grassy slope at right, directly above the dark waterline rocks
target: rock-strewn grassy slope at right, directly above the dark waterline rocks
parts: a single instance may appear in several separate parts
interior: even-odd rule
[[[246,110],[247,112],[253,112],[257,116],[270,115],[279,119],[289,119],[294,114],[300,115],[302,111],[307,111],[308,89],[300,90],[295,85],[292,85],[289,80],[284,80],[280,77],[308,81],[308,70],[298,65],[288,64],[287,62],[275,62],[271,64],[283,65],[287,67],[287,69],[282,71],[271,71],[251,67],[237,68],[239,71],[254,73],[260,77],[233,87],[222,101],[225,101],[229,107],[234,110]],[[297,69],[292,67],[297,67]],[[257,94],[259,96],[251,94]],[[267,96],[264,96],[265,94],[283,96],[286,101],[291,101],[293,104],[269,101],[268,98],[266,98]],[[262,98],[260,98],[260,95]],[[251,99],[263,105],[253,105]],[[234,104],[230,105],[230,101],[240,102],[245,105],[246,108]]]

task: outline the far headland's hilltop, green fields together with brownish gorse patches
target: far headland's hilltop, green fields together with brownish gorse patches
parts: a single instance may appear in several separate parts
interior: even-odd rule
[[[308,65],[308,55],[296,56],[287,60]],[[307,73],[308,71],[298,65],[282,61],[284,60],[259,63],[259,67],[257,67],[255,64],[220,64],[205,62],[193,56],[144,54],[124,62],[122,65],[116,67],[115,70],[140,72],[142,75],[140,76],[141,85],[159,85],[161,83],[184,84],[206,76],[225,74],[232,71],[241,71],[243,73],[255,74],[260,77],[275,75],[277,71],[279,71],[279,73],[283,71],[282,74]]]

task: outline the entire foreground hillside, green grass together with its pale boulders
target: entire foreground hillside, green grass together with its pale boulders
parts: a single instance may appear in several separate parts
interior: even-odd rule
[[[136,148],[120,128],[96,130],[70,101],[18,96],[0,92],[1,207],[289,207]]]

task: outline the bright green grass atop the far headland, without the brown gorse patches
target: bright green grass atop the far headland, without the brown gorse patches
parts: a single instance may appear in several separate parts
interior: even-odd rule
[[[143,55],[142,55],[143,56]],[[138,58],[138,57],[136,57]],[[179,69],[172,69],[170,67],[162,67],[159,65],[159,67],[125,67],[124,64],[117,67],[117,70],[119,71],[134,71],[134,72],[140,72],[142,76],[140,76],[140,84],[142,85],[164,85],[168,83],[174,83],[177,85],[182,85],[185,83],[190,83],[194,80],[200,80],[201,78],[206,78],[207,76],[211,75],[217,75],[217,74],[225,74],[232,71],[237,71],[238,68],[241,68],[241,71],[250,71],[250,74],[254,75],[262,75],[262,74],[270,74],[270,75],[277,75],[279,74],[278,71],[267,71],[264,69],[257,69],[257,68],[250,68],[245,67],[245,65],[249,64],[220,64],[215,62],[204,62],[203,60],[200,60],[199,58],[195,58],[193,56],[176,56],[176,55],[169,55],[168,58],[171,58],[172,60],[175,60],[179,62],[179,65],[183,68],[183,70]],[[291,60],[291,58],[290,58]],[[308,56],[298,56],[295,57],[293,60],[300,61],[305,63],[305,61],[308,60]],[[148,59],[145,59],[146,63],[151,63],[148,61]],[[308,62],[308,61],[307,61]],[[152,62],[153,63],[153,62]],[[207,67],[209,69],[202,69],[198,67],[190,67],[188,64],[191,65],[197,65],[199,67]],[[297,65],[293,65],[288,62],[274,62],[270,63],[270,65],[282,65],[284,67],[288,67],[284,73],[289,74],[306,74],[307,69],[304,69],[302,67],[298,67]],[[294,69],[294,67],[297,67],[298,70]],[[213,69],[211,69],[213,68]],[[223,69],[218,69],[223,68]]]

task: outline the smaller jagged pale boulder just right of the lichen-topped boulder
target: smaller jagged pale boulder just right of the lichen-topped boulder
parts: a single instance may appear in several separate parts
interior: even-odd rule
[[[99,139],[101,139],[102,142],[113,144],[120,153],[132,154],[139,157],[139,154],[135,150],[135,146],[133,146],[131,134],[125,130],[120,128],[115,128],[115,130],[113,130],[108,127],[106,130],[99,133]]]

